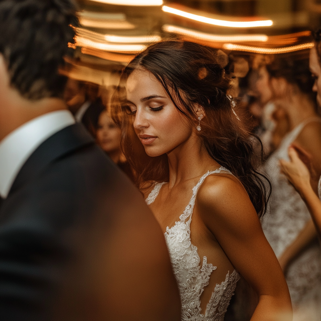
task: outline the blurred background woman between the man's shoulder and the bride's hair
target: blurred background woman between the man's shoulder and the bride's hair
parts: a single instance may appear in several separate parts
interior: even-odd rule
[[[133,171],[120,146],[121,129],[112,120],[110,113],[103,110],[98,118],[96,141],[110,159],[134,181]]]

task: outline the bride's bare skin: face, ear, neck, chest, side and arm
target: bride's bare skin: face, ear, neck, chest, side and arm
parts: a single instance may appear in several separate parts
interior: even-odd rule
[[[202,147],[195,129],[198,124],[191,124],[178,112],[149,71],[135,70],[127,80],[126,91],[129,117],[145,152],[168,156],[169,182],[150,206],[165,232],[178,221],[198,180],[220,165]],[[206,117],[201,106],[194,107],[198,115]],[[143,189],[145,197],[150,190]],[[191,241],[201,258],[207,256],[208,263],[217,266],[201,296],[202,311],[215,285],[236,269],[259,296],[252,321],[279,320],[281,315],[282,320],[291,320],[291,299],[281,267],[237,178],[220,173],[204,180],[196,197]]]

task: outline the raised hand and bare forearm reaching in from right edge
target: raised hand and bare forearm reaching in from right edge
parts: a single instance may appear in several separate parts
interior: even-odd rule
[[[289,148],[289,157],[290,161],[280,160],[281,172],[301,195],[321,235],[321,202],[311,187],[309,170],[292,147]]]

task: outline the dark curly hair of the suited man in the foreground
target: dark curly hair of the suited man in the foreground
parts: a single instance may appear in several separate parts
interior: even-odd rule
[[[78,25],[74,0],[0,0],[0,53],[11,85],[30,100],[63,95],[58,74]]]

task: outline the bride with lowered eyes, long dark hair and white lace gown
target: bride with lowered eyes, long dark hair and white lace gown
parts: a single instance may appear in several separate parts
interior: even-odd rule
[[[289,291],[259,222],[264,178],[226,94],[220,56],[191,42],[156,43],[120,83],[114,118],[165,234],[182,320],[223,320],[239,274],[259,297],[251,320],[291,320]]]

